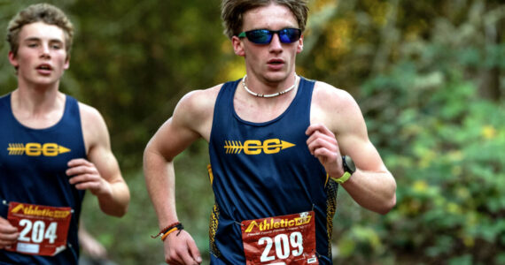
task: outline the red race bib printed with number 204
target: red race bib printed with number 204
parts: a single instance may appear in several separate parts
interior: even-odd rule
[[[54,256],[66,248],[70,226],[70,207],[50,207],[35,204],[9,203],[9,219],[18,227],[19,238],[6,250],[23,254]]]

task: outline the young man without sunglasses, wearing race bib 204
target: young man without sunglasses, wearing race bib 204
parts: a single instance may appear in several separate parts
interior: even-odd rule
[[[58,91],[73,34],[50,4],[28,6],[8,26],[18,88],[0,97],[0,264],[77,264],[86,190],[105,214],[127,212],[103,117]]]

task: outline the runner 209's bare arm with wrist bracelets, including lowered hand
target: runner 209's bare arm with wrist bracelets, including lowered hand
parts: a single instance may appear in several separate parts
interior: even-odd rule
[[[174,116],[161,125],[144,150],[144,178],[158,216],[159,229],[178,222],[175,210],[174,158],[200,137],[195,116],[194,96],[186,95],[175,108]],[[168,263],[198,264],[201,257],[186,231],[175,231],[164,241]]]

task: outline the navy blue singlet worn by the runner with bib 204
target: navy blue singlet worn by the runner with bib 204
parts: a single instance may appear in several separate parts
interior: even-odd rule
[[[11,94],[4,95],[0,123],[0,216],[7,219],[11,201],[73,209],[66,250],[55,256],[0,250],[0,264],[77,264],[84,191],[68,183],[65,171],[71,159],[86,158],[78,102],[66,95],[65,112],[58,123],[32,129],[12,115]]]

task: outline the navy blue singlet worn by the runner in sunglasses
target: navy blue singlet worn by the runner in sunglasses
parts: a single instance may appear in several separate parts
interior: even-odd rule
[[[337,184],[310,155],[305,131],[315,82],[300,79],[282,115],[264,123],[237,116],[233,97],[240,80],[217,96],[209,142],[215,205],[210,223],[212,264],[245,264],[240,223],[315,211],[316,254],[331,264],[330,238]]]

